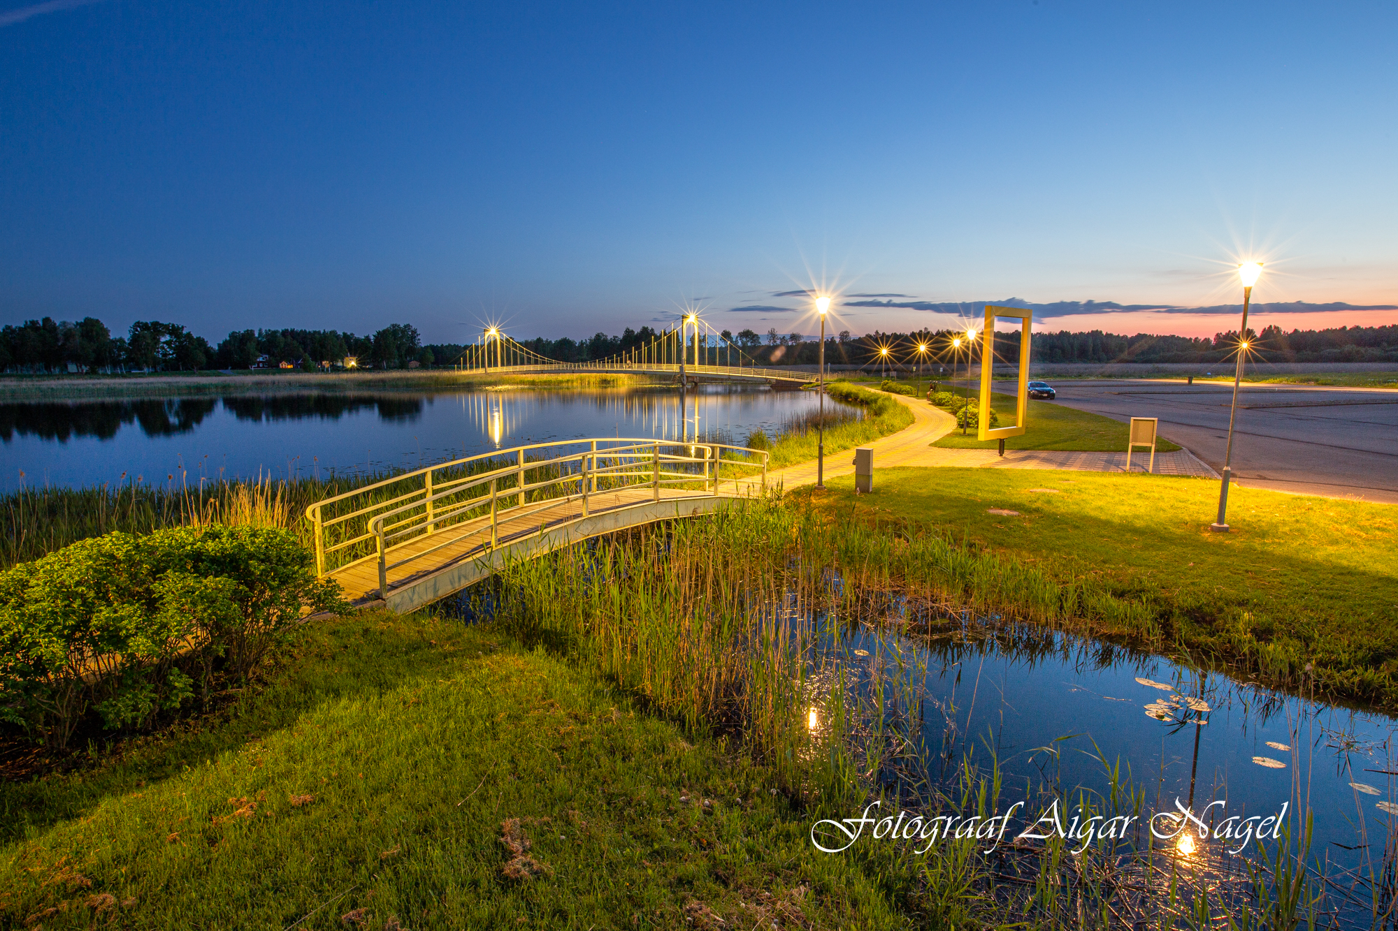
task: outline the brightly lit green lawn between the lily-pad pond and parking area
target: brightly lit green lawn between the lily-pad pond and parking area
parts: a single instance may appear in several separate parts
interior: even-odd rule
[[[872,495],[856,499],[851,478],[828,485],[823,507],[967,540],[1048,572],[1065,591],[1092,580],[1141,602],[1160,625],[1155,649],[1211,653],[1271,682],[1398,709],[1392,505],[1234,486],[1233,533],[1215,534],[1218,482],[1195,478],[888,468]]]

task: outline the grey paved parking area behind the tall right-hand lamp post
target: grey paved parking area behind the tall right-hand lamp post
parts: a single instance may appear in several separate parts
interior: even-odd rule
[[[1053,384],[1058,403],[1068,407],[1118,421],[1159,417],[1162,436],[1222,471],[1232,386]],[[1237,403],[1233,481],[1239,485],[1398,503],[1398,391],[1244,384]]]

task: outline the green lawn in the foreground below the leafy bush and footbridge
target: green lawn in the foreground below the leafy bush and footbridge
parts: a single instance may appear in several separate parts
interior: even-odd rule
[[[0,783],[0,925],[905,927],[769,772],[489,628],[358,615],[289,660],[224,723]]]

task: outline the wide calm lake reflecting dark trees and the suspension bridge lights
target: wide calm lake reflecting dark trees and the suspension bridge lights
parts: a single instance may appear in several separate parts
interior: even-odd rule
[[[811,391],[705,386],[590,391],[284,393],[0,404],[0,491],[417,467],[587,436],[776,433]],[[828,404],[833,404],[829,398]],[[829,408],[828,408],[829,410]]]

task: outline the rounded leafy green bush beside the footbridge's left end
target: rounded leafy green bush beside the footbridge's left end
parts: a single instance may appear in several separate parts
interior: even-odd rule
[[[246,679],[303,609],[344,609],[287,530],[94,537],[0,573],[0,721],[63,746]]]

